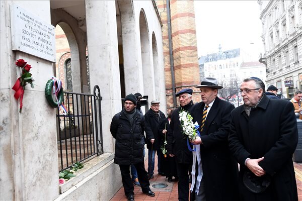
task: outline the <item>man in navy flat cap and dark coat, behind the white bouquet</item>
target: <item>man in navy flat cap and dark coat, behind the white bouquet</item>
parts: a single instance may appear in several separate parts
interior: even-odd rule
[[[189,169],[192,167],[192,152],[189,151],[187,140],[182,134],[179,121],[181,110],[190,113],[193,106],[193,90],[185,88],[176,93],[179,97],[180,108],[175,110],[171,116],[170,127],[167,134],[167,151],[170,157],[176,158],[178,181],[178,200],[189,199]]]

